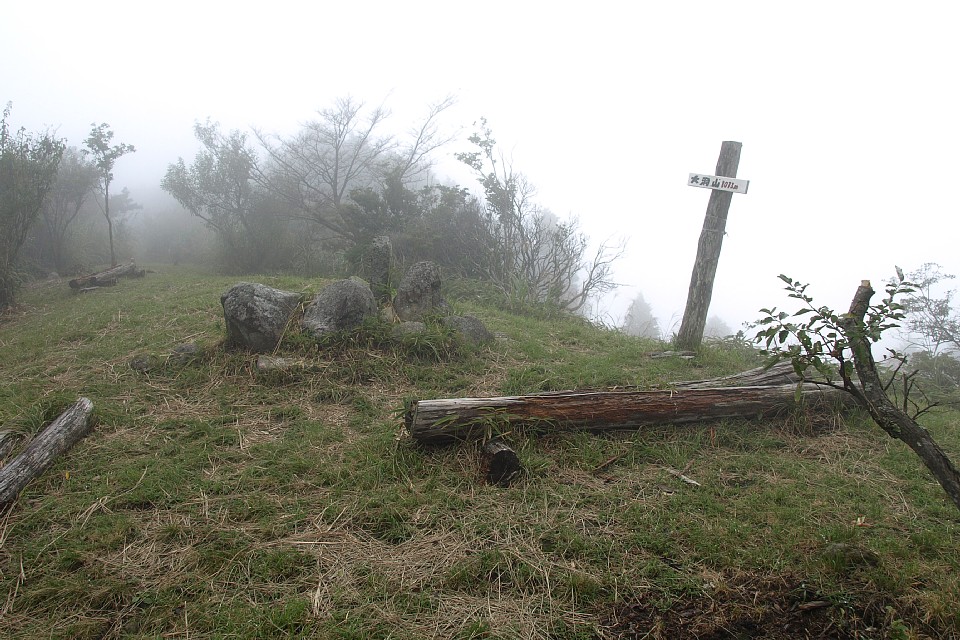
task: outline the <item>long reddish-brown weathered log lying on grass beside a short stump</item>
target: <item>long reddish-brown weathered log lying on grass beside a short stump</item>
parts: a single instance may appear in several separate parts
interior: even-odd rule
[[[537,431],[614,431],[651,424],[779,415],[797,407],[797,385],[660,391],[561,391],[529,396],[420,400],[405,416],[424,444],[489,437],[514,427]],[[805,384],[806,407],[838,407],[846,394]]]

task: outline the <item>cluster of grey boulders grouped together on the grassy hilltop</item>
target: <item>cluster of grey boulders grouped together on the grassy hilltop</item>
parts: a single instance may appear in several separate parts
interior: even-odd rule
[[[383,271],[378,264],[378,275]],[[374,289],[389,291],[386,281],[374,288],[360,278],[337,280],[321,290],[306,305],[300,328],[322,338],[356,327],[368,318],[381,317],[395,323],[398,337],[415,335],[426,330],[424,320],[438,317],[470,344],[479,345],[493,339],[480,320],[472,316],[450,315],[450,307],[441,295],[440,268],[432,262],[413,265],[397,287],[396,295],[381,299],[387,302],[383,311],[377,304]],[[300,305],[300,295],[253,282],[240,282],[220,298],[227,326],[227,342],[234,347],[256,353],[276,349]]]

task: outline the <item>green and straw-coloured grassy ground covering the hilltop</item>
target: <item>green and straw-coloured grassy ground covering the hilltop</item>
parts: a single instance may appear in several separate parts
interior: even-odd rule
[[[475,445],[419,448],[398,418],[412,398],[724,375],[747,351],[651,359],[663,345],[460,299],[495,345],[292,332],[280,352],[309,368],[261,374],[222,345],[237,280],[40,286],[0,322],[0,428],[80,395],[96,420],[0,513],[3,637],[960,637],[960,517],[862,419],[514,434],[527,473],[503,489]],[[170,357],[185,342],[200,353]],[[160,364],[131,369],[143,355]],[[958,423],[925,423],[955,460]]]

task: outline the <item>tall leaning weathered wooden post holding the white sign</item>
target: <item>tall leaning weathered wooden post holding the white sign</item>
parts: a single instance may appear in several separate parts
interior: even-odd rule
[[[720,158],[717,160],[717,175],[728,178],[737,177],[740,165],[739,142],[724,142],[720,145]],[[713,280],[717,275],[720,262],[720,248],[723,234],[727,228],[727,212],[733,193],[714,189],[707,203],[707,215],[703,220],[700,242],[697,245],[697,261],[690,276],[690,292],[687,294],[687,307],[683,312],[680,332],[677,334],[677,348],[696,351],[703,341],[703,328],[707,323],[707,311],[713,296]]]

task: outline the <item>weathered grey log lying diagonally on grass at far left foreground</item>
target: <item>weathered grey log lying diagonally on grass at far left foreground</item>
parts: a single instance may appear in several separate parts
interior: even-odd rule
[[[0,508],[16,500],[31,480],[90,433],[92,411],[93,402],[80,398],[39,433],[10,464],[0,469]]]

